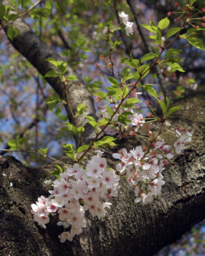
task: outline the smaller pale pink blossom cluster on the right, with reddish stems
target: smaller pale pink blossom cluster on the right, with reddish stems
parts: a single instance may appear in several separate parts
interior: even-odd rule
[[[132,121],[137,125],[143,125],[142,115],[135,115],[136,118]],[[176,130],[177,135],[181,137],[174,143],[174,148],[177,154],[180,154],[185,146],[185,143],[191,140],[191,134],[187,129]],[[184,135],[181,132],[185,132]],[[165,184],[163,181],[162,171],[164,166],[169,164],[169,159],[174,157],[171,152],[171,146],[165,145],[165,140],[152,143],[149,150],[136,146],[128,153],[125,148],[118,153],[112,154],[115,159],[120,159],[116,169],[121,175],[127,176],[127,181],[130,187],[134,187],[136,195],[135,203],[142,201],[143,204],[150,203],[154,195],[159,195],[161,187]]]

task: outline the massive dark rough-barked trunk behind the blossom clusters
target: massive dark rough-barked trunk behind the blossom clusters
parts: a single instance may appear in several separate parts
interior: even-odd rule
[[[0,250],[1,255],[129,255],[151,256],[176,241],[193,225],[205,218],[205,91],[176,104],[184,108],[166,122],[167,129],[187,127],[193,141],[163,171],[166,184],[161,195],[146,205],[134,203],[134,192],[121,181],[120,195],[112,200],[109,214],[101,220],[87,215],[88,227],[74,241],[61,244],[61,227],[53,220],[47,230],[34,223],[31,203],[47,195],[53,177],[53,164],[70,165],[67,157],[52,164],[31,169],[14,157],[0,157]],[[155,124],[152,127],[157,130]],[[142,131],[143,132],[143,131]],[[127,136],[118,140],[119,148],[131,149],[144,141]],[[105,152],[109,165],[116,164],[112,151]],[[89,159],[93,151],[87,156]],[[85,159],[86,160],[86,159]],[[2,173],[7,176],[3,176]],[[9,182],[13,183],[13,188]]]

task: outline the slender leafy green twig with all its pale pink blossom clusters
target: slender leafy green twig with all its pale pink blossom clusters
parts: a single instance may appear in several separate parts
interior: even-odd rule
[[[191,2],[193,3],[194,1]],[[138,99],[138,93],[135,90],[140,86],[140,80],[148,75],[150,69],[155,65],[167,65],[183,71],[182,67],[178,64],[180,61],[178,56],[180,50],[168,48],[176,39],[182,37],[180,32],[190,17],[189,12],[191,10],[194,10],[193,4],[190,4],[183,11],[185,18],[182,26],[169,29],[166,31],[166,37],[164,38],[162,34],[164,29],[169,26],[168,18],[160,20],[158,26],[153,21],[150,21],[150,25],[143,24],[142,26],[145,29],[154,34],[150,36],[150,39],[154,39],[155,45],[158,45],[160,49],[154,47],[155,52],[145,54],[141,61],[133,59],[132,56],[130,58],[123,57],[120,64],[125,64],[125,67],[123,68],[120,80],[115,79],[115,66],[112,64],[112,50],[120,42],[112,42],[112,38],[109,37],[110,34],[119,29],[119,26],[111,29],[111,24],[109,24],[107,45],[113,77],[107,77],[107,80],[111,83],[111,86],[107,87],[107,94],[103,91],[95,94],[98,99],[106,100],[107,103],[97,113],[99,117],[98,121],[91,116],[86,116],[89,124],[96,131],[96,138],[90,145],[83,145],[77,149],[77,153],[84,151],[79,159],[77,159],[74,146],[63,143],[63,146],[66,148],[66,154],[74,160],[73,167],[67,167],[66,170],[62,170],[61,167],[56,166],[56,171],[53,174],[58,177],[58,180],[53,182],[53,190],[50,190],[50,197],[39,197],[36,204],[31,205],[34,220],[43,227],[50,221],[50,215],[57,216],[59,220],[57,225],[62,225],[64,228],[64,232],[59,236],[62,243],[66,240],[72,241],[75,235],[82,233],[82,227],[85,227],[85,211],[90,211],[92,216],[98,217],[98,219],[101,219],[106,214],[106,208],[110,208],[112,205],[112,203],[109,203],[109,199],[116,197],[118,189],[120,189],[119,181],[121,176],[125,176],[130,187],[134,188],[136,195],[135,203],[139,203],[140,201],[143,204],[150,203],[155,195],[160,194],[161,188],[165,184],[165,181],[163,181],[163,170],[169,164],[170,159],[174,157],[173,146],[171,147],[171,145],[166,144],[165,139],[167,134],[163,133],[163,124],[171,113],[179,110],[182,106],[169,108],[170,100],[168,97],[166,97],[166,102],[163,102],[159,99],[157,92],[152,86],[144,85],[142,88],[158,100],[163,112],[163,116],[158,117],[150,107],[149,102],[147,102],[152,113],[147,118],[144,118],[142,114],[136,113],[136,105],[141,101]],[[128,21],[128,15],[125,12],[120,12],[119,15],[125,24],[126,34],[132,34],[133,30],[131,26],[133,23]],[[198,45],[199,41],[194,41],[189,34],[190,31],[188,30],[187,34],[184,34],[183,37],[187,36],[188,42],[204,50],[204,45],[203,47],[200,44]],[[171,39],[171,42],[166,45],[166,40],[172,36],[174,36],[174,39]],[[147,61],[151,59],[155,60],[151,65],[147,64]],[[63,67],[65,65],[63,66],[60,61],[53,61],[53,63],[58,67],[61,73],[60,75],[63,75],[63,72],[65,72]],[[47,75],[56,74],[50,73]],[[126,80],[130,79],[134,79],[135,82],[126,84]],[[77,113],[83,114],[83,108],[85,108],[83,104],[80,107],[78,106]],[[150,130],[150,121],[160,122],[160,128],[156,135]],[[76,133],[78,132],[77,127],[71,127],[71,124],[66,125],[70,130]],[[97,155],[93,156],[85,167],[80,165],[85,154],[91,148],[105,148],[116,145],[114,142],[115,138],[109,136],[110,134],[114,135],[117,132],[131,130],[131,135],[139,136],[137,132],[142,126],[147,129],[147,135],[143,138],[148,140],[148,146],[136,146],[130,152],[123,148],[118,153],[112,154],[112,157],[119,160],[116,171],[107,166],[107,159],[102,157],[102,151],[98,151]],[[78,128],[81,129],[81,127]],[[103,132],[109,132],[109,135],[98,140]],[[176,135],[178,138],[174,142]],[[176,153],[181,154],[185,143],[191,140],[192,135],[187,129],[177,127],[176,132],[169,132],[169,137],[173,141]],[[158,140],[159,138],[160,140]]]

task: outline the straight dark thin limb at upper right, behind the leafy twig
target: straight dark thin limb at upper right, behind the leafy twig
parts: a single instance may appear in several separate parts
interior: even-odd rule
[[[140,18],[139,18],[139,13],[136,10],[135,2],[134,2],[134,0],[127,0],[127,3],[131,7],[131,12],[133,12],[133,14],[134,14],[134,20],[135,20],[137,29],[139,31],[140,37],[142,38],[144,48],[146,49],[147,53],[152,53],[152,48],[151,48],[150,42],[148,41],[146,34],[144,34],[143,28],[141,26],[141,21],[140,21]],[[160,67],[157,65],[157,66],[153,67],[153,69],[154,69],[154,71],[156,72],[156,74],[158,76],[158,80],[159,80],[159,83],[160,83],[160,88],[163,91],[163,96],[165,98],[166,98],[166,96],[169,97],[169,90],[166,86],[166,82],[163,78],[163,74],[160,71]],[[169,99],[170,99],[170,97],[169,97]]]

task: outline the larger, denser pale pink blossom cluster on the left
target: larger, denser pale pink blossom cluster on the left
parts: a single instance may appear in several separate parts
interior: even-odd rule
[[[89,210],[93,217],[101,219],[106,208],[112,205],[109,198],[117,196],[120,176],[107,168],[102,153],[98,151],[85,169],[77,163],[67,167],[60,173],[61,178],[53,182],[50,197],[41,196],[36,204],[31,205],[34,221],[43,227],[50,221],[50,215],[57,215],[57,224],[63,225],[65,230],[59,236],[61,243],[72,241],[75,235],[82,233],[85,211]]]

